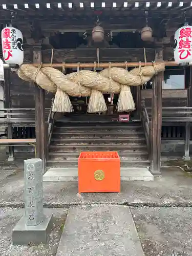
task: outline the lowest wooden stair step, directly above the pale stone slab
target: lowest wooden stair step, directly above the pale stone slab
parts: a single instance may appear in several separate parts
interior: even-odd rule
[[[121,159],[121,167],[146,167],[150,166],[148,159]],[[78,167],[78,161],[76,160],[48,160],[47,167]]]

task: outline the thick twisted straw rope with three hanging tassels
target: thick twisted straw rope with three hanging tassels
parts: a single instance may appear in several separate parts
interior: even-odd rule
[[[132,101],[130,86],[140,86],[141,84],[150,80],[157,72],[164,71],[163,63],[153,63],[153,66],[139,67],[130,72],[123,68],[104,69],[97,73],[89,70],[81,70],[73,72],[69,75],[63,74],[61,71],[52,68],[52,59],[50,67],[36,68],[34,66],[23,64],[18,69],[18,76],[25,81],[33,81],[42,89],[55,93],[57,92],[54,103],[54,111],[58,112],[72,112],[73,108],[68,95],[70,96],[90,96],[91,91],[93,103],[89,104],[90,112],[101,112],[106,110],[106,105],[101,103],[101,93],[119,93],[117,110],[130,111],[135,109],[134,102],[127,106],[126,101]],[[99,63],[99,60],[98,60]],[[79,67],[79,65],[78,65]],[[126,65],[125,65],[126,67]],[[122,87],[122,85],[124,87]],[[96,97],[96,95],[98,95]],[[122,95],[124,95],[122,97]],[[66,98],[68,97],[68,98]],[[55,97],[56,98],[56,97]],[[62,99],[65,98],[65,100]],[[104,98],[103,98],[104,99]],[[102,102],[103,102],[102,99]],[[95,102],[94,101],[98,101]],[[59,103],[58,103],[59,102]],[[99,103],[100,102],[100,103]],[[63,106],[66,104],[66,106]],[[94,104],[94,105],[91,105]]]

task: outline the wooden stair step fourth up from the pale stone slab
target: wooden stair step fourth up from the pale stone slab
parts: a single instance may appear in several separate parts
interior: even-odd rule
[[[132,143],[133,145],[135,143],[139,142],[145,142],[144,137],[125,137],[125,138],[84,138],[84,139],[79,139],[79,138],[70,138],[70,139],[55,139],[52,138],[51,140],[51,145],[105,145],[105,144],[111,144],[111,145],[116,145],[116,144],[127,144],[127,143]]]

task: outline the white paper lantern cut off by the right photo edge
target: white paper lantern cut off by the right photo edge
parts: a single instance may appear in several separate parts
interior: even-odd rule
[[[183,26],[175,32],[174,58],[178,64],[192,61],[192,26]]]

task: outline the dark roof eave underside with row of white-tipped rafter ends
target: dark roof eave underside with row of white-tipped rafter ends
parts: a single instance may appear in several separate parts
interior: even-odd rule
[[[177,29],[187,21],[192,23],[192,2],[179,1],[42,1],[42,0],[0,0],[0,23],[6,24],[14,13],[14,23],[24,30],[32,23],[40,23],[42,30],[88,29],[96,24],[97,16],[105,29],[141,29],[145,25],[145,11],[148,24],[158,29]]]

